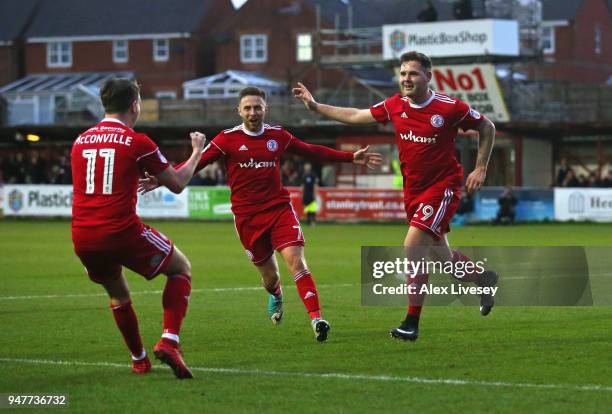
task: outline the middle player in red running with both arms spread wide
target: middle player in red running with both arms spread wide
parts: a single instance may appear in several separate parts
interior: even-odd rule
[[[270,294],[270,319],[278,324],[283,318],[283,294],[274,256],[274,251],[278,251],[293,275],[315,337],[322,342],[327,339],[330,326],[321,317],[319,294],[304,258],[302,228],[289,192],[281,183],[280,157],[287,152],[320,162],[352,162],[369,168],[380,164],[382,158],[380,154],[368,153],[368,147],[352,153],[306,144],[280,126],[264,124],[266,111],[263,90],[242,89],[238,101],[242,124],[221,132],[211,141],[196,171],[218,159],[225,161],[236,231]],[[158,180],[153,177],[141,180],[141,190],[145,192],[157,185]]]

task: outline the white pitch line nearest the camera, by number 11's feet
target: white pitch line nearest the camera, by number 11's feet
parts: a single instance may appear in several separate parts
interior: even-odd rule
[[[111,367],[129,369],[130,365],[117,364],[112,362],[85,362],[85,361],[53,361],[48,359],[24,359],[24,358],[0,358],[0,362],[32,364],[32,365],[64,365],[64,366],[83,366],[83,367]],[[164,367],[166,368],[166,367]],[[463,386],[485,386],[502,388],[532,388],[550,389],[567,391],[593,391],[593,392],[612,392],[612,387],[597,384],[574,385],[574,384],[535,384],[525,382],[504,382],[504,381],[478,381],[462,380],[453,378],[421,378],[421,377],[400,377],[392,375],[370,375],[370,374],[346,374],[340,372],[288,372],[288,371],[264,371],[259,369],[239,369],[239,368],[208,368],[191,367],[192,371],[210,372],[215,374],[230,375],[252,375],[260,377],[298,377],[298,378],[332,378],[341,380],[361,380],[379,382],[409,382],[416,384],[439,384],[439,385],[463,385]]]

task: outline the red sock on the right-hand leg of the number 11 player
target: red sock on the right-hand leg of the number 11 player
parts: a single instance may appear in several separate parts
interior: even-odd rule
[[[164,334],[171,334],[176,342],[181,331],[181,324],[187,314],[189,304],[189,294],[191,293],[191,277],[187,275],[177,275],[168,277],[162,305],[164,307]]]

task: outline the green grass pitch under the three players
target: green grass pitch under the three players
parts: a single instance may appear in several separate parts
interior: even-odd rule
[[[188,255],[181,342],[193,381],[154,365],[132,375],[102,289],[72,252],[67,221],[0,222],[0,393],[68,394],[75,412],[609,412],[612,308],[430,307],[415,343],[391,340],[403,308],[360,306],[362,245],[400,245],[405,226],[305,228],[306,258],[332,331],[315,341],[281,266],[286,314],[266,297],[232,223],[152,222]],[[612,246],[609,224],[471,226],[455,245]],[[611,248],[612,252],[612,248]],[[164,277],[128,272],[149,352]]]

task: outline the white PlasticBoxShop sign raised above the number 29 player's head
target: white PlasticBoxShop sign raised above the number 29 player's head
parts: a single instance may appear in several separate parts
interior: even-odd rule
[[[411,50],[432,57],[518,56],[518,23],[515,20],[477,19],[383,26],[385,60],[397,59]]]

